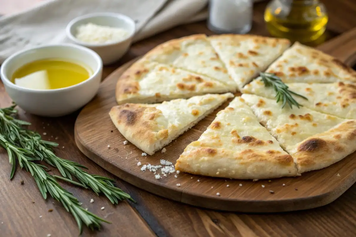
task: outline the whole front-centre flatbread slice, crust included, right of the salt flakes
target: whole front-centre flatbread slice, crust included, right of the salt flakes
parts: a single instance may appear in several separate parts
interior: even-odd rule
[[[235,179],[296,176],[293,158],[236,97],[177,160],[176,170]]]

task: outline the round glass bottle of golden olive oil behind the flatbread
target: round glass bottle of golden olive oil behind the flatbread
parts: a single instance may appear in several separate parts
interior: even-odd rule
[[[266,7],[265,22],[272,36],[305,44],[323,35],[328,14],[319,0],[272,0]]]

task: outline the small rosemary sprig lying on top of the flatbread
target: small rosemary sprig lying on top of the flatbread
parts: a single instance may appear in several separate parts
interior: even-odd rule
[[[282,101],[282,108],[288,103],[289,107],[297,106],[299,108],[300,105],[295,99],[293,98],[292,94],[295,96],[302,97],[303,99],[308,100],[308,98],[299,95],[293,91],[288,90],[288,86],[282,82],[282,80],[272,73],[261,72],[260,76],[262,77],[262,81],[266,87],[273,86],[274,91],[276,92],[276,101]]]

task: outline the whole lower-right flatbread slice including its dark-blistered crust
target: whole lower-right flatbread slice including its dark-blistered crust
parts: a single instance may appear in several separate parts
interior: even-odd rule
[[[293,157],[299,173],[328,167],[356,150],[356,120],[305,107],[282,108],[275,99],[256,95],[241,97]]]

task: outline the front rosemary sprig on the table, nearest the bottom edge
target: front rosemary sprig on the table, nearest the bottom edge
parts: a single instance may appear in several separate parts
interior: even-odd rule
[[[43,198],[47,199],[47,193],[49,193],[52,198],[61,202],[68,212],[72,213],[75,221],[77,221],[80,233],[83,231],[83,223],[92,230],[94,228],[100,229],[101,222],[110,223],[82,208],[78,199],[75,198],[72,193],[69,193],[66,189],[63,189],[58,184],[54,176],[49,175],[45,171],[44,168],[47,168],[46,166],[32,162],[40,160],[40,158],[33,156],[31,151],[12,145],[2,134],[0,134],[0,145],[4,147],[9,154],[10,163],[12,164],[11,173],[13,174],[15,160],[17,158],[20,167],[25,167],[26,171],[30,172],[32,177],[35,179],[37,187]]]

